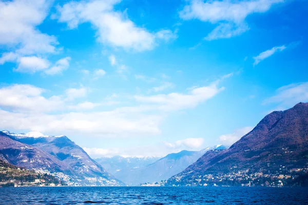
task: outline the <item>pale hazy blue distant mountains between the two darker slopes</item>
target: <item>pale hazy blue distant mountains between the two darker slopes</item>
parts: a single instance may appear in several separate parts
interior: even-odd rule
[[[116,178],[130,186],[137,186],[141,183],[156,182],[168,179],[189,165],[197,161],[205,152],[209,150],[223,150],[222,145],[208,147],[200,151],[186,151],[171,153],[163,158],[100,158],[96,159],[104,168]]]

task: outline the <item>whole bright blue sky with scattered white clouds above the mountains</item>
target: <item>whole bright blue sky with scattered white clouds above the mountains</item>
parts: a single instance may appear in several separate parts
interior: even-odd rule
[[[231,145],[308,101],[307,1],[0,1],[0,128],[93,157]]]

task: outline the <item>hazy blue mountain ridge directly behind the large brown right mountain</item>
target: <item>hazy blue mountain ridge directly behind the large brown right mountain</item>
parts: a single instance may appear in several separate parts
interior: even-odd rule
[[[201,151],[183,150],[179,153],[171,153],[144,167],[119,170],[114,173],[114,176],[127,183],[127,185],[140,185],[140,183],[165,180],[183,171],[205,152],[220,146],[206,148]]]

